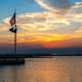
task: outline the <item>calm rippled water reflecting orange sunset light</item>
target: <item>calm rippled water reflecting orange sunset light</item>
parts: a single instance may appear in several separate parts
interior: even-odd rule
[[[0,66],[0,82],[82,82],[82,57],[28,58],[23,66]]]

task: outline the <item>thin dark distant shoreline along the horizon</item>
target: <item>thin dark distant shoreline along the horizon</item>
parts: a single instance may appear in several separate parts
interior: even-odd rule
[[[54,56],[82,56],[82,55],[0,55],[0,58],[52,58]]]

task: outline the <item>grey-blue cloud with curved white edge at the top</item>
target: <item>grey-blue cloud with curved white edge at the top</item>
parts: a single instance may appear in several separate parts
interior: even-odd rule
[[[38,4],[58,14],[63,14],[71,8],[69,0],[35,0]]]

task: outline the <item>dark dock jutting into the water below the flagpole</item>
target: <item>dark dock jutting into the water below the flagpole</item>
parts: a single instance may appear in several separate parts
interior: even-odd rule
[[[24,65],[25,58],[19,56],[0,56],[0,65]]]

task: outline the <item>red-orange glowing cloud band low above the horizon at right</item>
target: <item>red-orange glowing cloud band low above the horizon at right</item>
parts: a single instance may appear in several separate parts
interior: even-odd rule
[[[65,40],[40,42],[45,48],[82,47],[82,38],[70,38]]]

